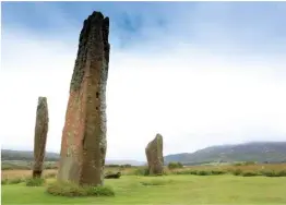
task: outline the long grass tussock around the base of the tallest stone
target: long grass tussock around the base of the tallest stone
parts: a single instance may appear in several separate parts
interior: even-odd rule
[[[80,186],[71,182],[51,183],[47,192],[58,196],[114,196],[115,192],[110,186]]]

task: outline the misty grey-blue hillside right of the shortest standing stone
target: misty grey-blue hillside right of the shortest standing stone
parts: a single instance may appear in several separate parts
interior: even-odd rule
[[[286,142],[258,142],[238,145],[211,146],[194,153],[165,156],[165,162],[180,161],[184,165],[207,162],[281,162],[286,161]]]

